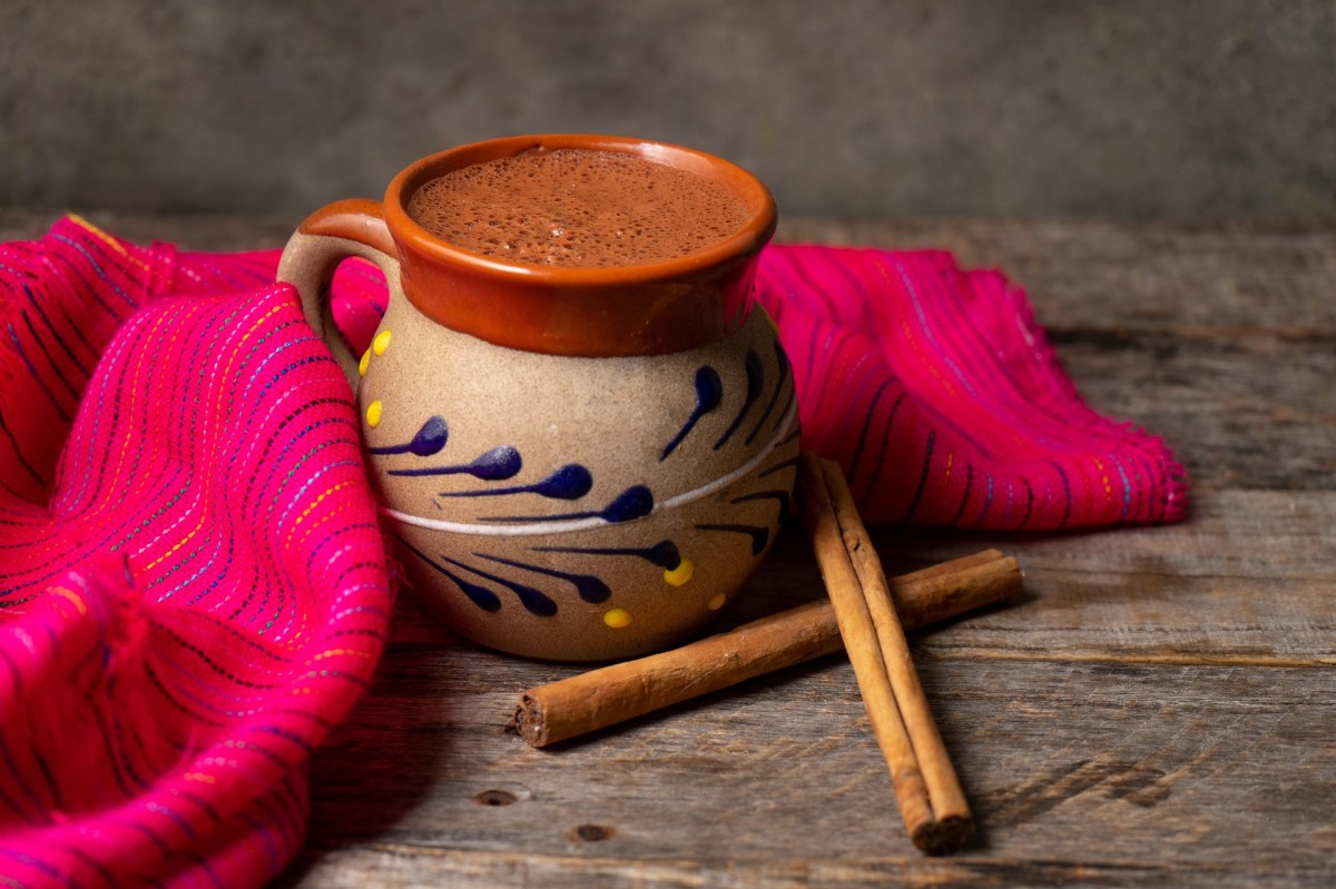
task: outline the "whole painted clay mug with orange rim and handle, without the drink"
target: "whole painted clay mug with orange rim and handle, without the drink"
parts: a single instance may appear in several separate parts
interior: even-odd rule
[[[745,226],[704,250],[612,267],[469,252],[407,214],[445,172],[534,148],[637,155],[725,184]],[[465,145],[293,235],[301,294],[357,391],[363,447],[414,589],[448,625],[526,657],[644,654],[701,630],[774,542],[792,490],[798,404],[755,260],[775,226],[745,171],[609,136]],[[358,360],[329,280],[347,256],[389,307]]]

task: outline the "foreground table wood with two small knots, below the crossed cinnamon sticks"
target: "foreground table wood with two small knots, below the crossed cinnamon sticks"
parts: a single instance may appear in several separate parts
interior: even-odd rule
[[[513,694],[564,670],[393,646],[318,757],[305,885],[1317,886],[1336,874],[1332,670],[919,659],[981,825],[945,862],[904,837],[843,659],[529,749],[504,730]]]

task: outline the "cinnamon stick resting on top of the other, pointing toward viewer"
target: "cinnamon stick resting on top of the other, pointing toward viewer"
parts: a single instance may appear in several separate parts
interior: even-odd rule
[[[914,845],[954,852],[973,818],[910,658],[890,586],[838,466],[804,453],[799,495],[816,562]]]

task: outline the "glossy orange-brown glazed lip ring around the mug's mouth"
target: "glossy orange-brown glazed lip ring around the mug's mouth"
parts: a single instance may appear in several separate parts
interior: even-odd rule
[[[442,240],[420,226],[407,212],[409,200],[432,179],[474,164],[512,158],[538,148],[580,148],[635,155],[692,172],[732,188],[751,211],[744,226],[723,240],[688,254],[653,263],[629,266],[528,266],[486,256]],[[737,164],[695,148],[628,136],[546,133],[488,139],[428,155],[405,167],[385,190],[385,220],[401,248],[446,266],[513,283],[554,287],[623,287],[689,278],[693,272],[727,266],[759,251],[775,234],[776,210],[770,190]]]

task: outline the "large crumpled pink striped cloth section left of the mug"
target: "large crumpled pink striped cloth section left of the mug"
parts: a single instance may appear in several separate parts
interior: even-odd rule
[[[273,254],[0,247],[0,884],[235,886],[391,606],[347,383]]]

